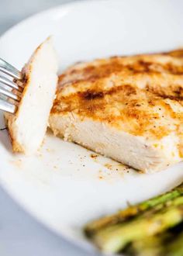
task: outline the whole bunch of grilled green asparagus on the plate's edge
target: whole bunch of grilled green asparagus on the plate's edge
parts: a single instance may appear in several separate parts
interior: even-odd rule
[[[183,223],[183,183],[171,192],[88,223],[85,234],[106,253],[127,247],[130,255],[182,256],[183,235],[174,240],[169,232],[180,223]],[[165,251],[166,243],[169,245]]]

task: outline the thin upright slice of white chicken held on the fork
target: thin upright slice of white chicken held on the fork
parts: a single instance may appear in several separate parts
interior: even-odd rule
[[[57,56],[51,38],[43,42],[23,67],[25,87],[15,115],[5,114],[12,149],[34,153],[42,144],[57,87]]]

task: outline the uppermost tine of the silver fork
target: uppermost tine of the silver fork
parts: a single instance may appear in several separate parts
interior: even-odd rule
[[[16,67],[13,67],[8,62],[2,60],[0,58],[0,71],[4,72],[5,74],[9,74],[12,78],[16,78],[18,80],[21,80],[22,74],[20,71],[16,69]]]

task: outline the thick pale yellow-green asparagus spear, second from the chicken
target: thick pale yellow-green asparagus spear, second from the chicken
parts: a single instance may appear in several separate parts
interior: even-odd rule
[[[173,206],[150,216],[140,216],[127,223],[118,223],[99,230],[93,240],[104,252],[115,253],[133,240],[144,239],[174,227],[183,220],[183,196],[174,199]]]

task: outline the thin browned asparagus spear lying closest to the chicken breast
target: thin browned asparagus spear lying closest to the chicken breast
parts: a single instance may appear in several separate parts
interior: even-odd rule
[[[163,208],[167,202],[171,202],[172,199],[177,198],[178,196],[183,195],[183,183],[178,187],[172,189],[170,192],[166,192],[163,195],[158,195],[153,199],[141,202],[136,206],[130,206],[127,209],[119,211],[119,213],[102,217],[99,220],[94,220],[85,227],[85,234],[88,237],[91,237],[98,230],[101,230],[104,227],[108,227],[112,224],[123,222],[124,220],[129,220],[133,216],[137,216],[140,213],[147,211],[148,209],[154,208],[154,206],[159,206]]]

